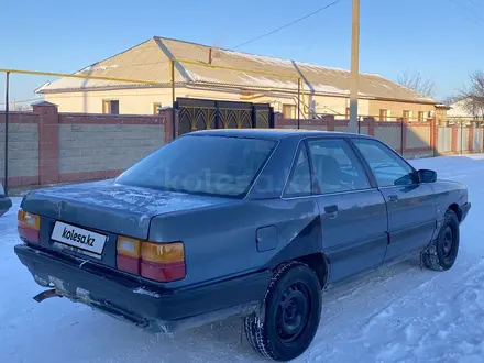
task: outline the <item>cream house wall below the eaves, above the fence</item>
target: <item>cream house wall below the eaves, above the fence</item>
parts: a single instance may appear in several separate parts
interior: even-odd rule
[[[238,89],[216,89],[213,87],[193,88],[177,87],[176,97],[234,100],[258,103],[271,103],[274,111],[283,112],[283,105],[297,106],[297,94],[275,91],[241,92]],[[112,89],[106,91],[45,94],[45,100],[58,106],[59,112],[102,113],[102,100],[113,99],[120,102],[121,114],[153,114],[153,103],[172,106],[170,88]],[[300,117],[310,119],[316,114],[346,114],[350,107],[348,97],[311,95],[309,90],[301,94]],[[405,106],[403,106],[405,105]],[[433,106],[399,102],[382,102],[367,99],[359,100],[359,114],[378,116],[381,108],[389,108],[391,114],[400,116],[403,110],[410,109],[417,116],[419,110],[432,111]],[[295,111],[294,117],[297,117]]]

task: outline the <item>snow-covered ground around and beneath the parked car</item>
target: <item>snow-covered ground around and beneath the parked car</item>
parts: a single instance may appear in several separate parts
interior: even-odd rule
[[[421,271],[409,261],[324,293],[319,332],[295,362],[484,362],[484,155],[413,163],[469,186],[454,267]],[[0,362],[264,362],[239,320],[152,336],[66,299],[35,302],[42,288],[13,253],[14,202],[0,218]]]

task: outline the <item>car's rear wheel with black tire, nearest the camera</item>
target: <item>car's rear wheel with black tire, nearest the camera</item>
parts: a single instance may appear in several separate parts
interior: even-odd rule
[[[321,318],[321,285],[315,271],[299,262],[279,266],[262,310],[262,316],[254,312],[244,321],[251,346],[274,361],[290,361],[302,354]]]

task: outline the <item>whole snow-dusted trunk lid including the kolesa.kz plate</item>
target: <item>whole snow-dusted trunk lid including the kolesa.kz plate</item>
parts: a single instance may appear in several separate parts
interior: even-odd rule
[[[41,245],[116,267],[118,235],[146,240],[155,216],[229,201],[102,180],[31,191],[21,208],[41,216]]]

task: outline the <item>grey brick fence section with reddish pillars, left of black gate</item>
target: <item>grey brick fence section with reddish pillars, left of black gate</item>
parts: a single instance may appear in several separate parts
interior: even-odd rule
[[[50,102],[9,114],[9,186],[114,177],[172,139],[172,110],[156,116],[59,113]],[[0,180],[4,170],[0,113]]]

